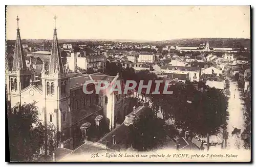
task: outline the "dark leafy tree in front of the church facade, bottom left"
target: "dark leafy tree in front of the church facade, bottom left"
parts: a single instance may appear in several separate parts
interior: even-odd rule
[[[11,161],[33,161],[45,153],[46,128],[38,118],[35,102],[16,105],[8,113],[8,131]],[[47,127],[48,155],[56,143],[53,125]]]

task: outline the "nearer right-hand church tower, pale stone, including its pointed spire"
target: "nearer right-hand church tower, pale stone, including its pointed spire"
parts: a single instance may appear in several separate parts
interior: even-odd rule
[[[42,94],[45,100],[45,124],[53,124],[61,135],[57,141],[70,137],[71,111],[70,111],[70,77],[63,69],[58,46],[56,19],[53,33],[52,50],[49,68],[45,62],[41,71]],[[57,133],[57,134],[59,134]],[[64,139],[63,139],[64,138]],[[59,145],[59,143],[58,143]]]

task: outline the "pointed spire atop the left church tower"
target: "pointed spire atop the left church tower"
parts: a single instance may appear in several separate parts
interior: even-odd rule
[[[25,57],[23,54],[22,40],[20,39],[20,33],[18,28],[18,21],[19,21],[18,16],[16,20],[17,20],[17,37],[16,37],[16,44],[15,44],[15,50],[14,50],[12,71],[18,70],[18,64],[19,64],[20,71],[27,71]]]

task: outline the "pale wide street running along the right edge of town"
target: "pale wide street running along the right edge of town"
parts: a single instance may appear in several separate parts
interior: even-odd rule
[[[228,100],[228,112],[229,120],[227,120],[227,132],[228,138],[226,141],[226,149],[240,149],[243,147],[243,140],[241,139],[241,133],[244,130],[244,114],[243,104],[240,99],[240,94],[236,82],[230,81],[230,96]],[[232,134],[234,128],[238,129],[238,132]],[[241,131],[239,130],[241,129]]]

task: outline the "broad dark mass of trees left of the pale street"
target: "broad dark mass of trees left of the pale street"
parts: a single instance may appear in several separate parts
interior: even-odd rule
[[[228,119],[227,97],[215,88],[201,92],[190,83],[172,85],[170,91],[173,94],[151,95],[153,108],[161,106],[164,119],[174,119],[176,127],[190,135],[214,134]]]

